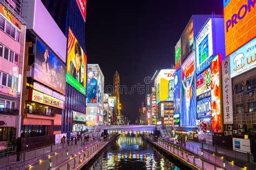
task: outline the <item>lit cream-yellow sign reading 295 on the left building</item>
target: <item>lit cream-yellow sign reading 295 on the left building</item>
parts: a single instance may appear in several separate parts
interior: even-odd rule
[[[36,90],[29,91],[29,100],[50,105],[51,107],[65,109],[65,102]]]

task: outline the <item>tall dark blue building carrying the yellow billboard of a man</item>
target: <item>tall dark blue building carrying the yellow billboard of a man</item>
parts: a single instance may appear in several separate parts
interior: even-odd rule
[[[86,73],[87,57],[85,48],[86,1],[42,0],[46,9],[65,34],[66,54],[66,100],[62,115],[62,133],[83,132],[86,130]],[[65,18],[65,19],[63,19]],[[80,70],[75,71],[76,49],[80,46]]]

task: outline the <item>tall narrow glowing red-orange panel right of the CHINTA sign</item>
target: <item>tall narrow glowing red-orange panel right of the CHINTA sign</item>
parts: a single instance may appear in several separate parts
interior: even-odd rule
[[[220,56],[214,56],[211,63],[212,71],[212,132],[221,132],[221,104],[220,104]]]

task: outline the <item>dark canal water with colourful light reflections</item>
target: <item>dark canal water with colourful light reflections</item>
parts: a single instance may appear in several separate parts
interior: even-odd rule
[[[86,169],[181,169],[141,136],[121,134]]]

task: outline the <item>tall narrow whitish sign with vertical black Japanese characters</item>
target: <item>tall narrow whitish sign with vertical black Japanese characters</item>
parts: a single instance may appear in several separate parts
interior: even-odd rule
[[[232,79],[230,77],[230,58],[222,62],[222,91],[224,124],[233,124]]]

